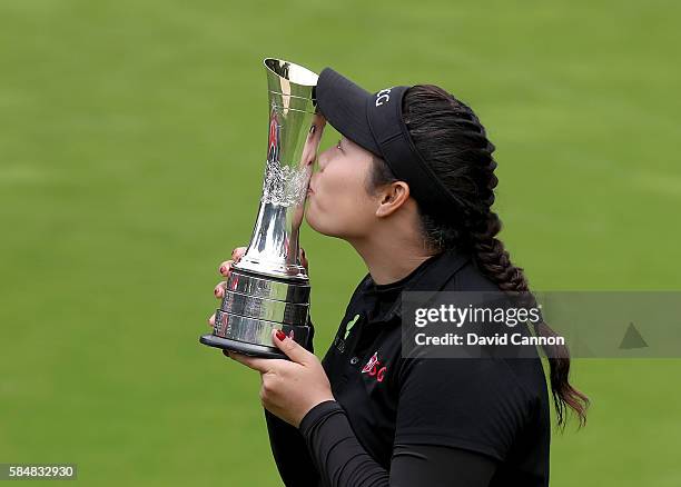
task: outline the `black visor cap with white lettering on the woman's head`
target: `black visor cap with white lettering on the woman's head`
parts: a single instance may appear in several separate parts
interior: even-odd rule
[[[330,68],[319,73],[315,97],[328,122],[353,142],[378,156],[395,176],[409,186],[411,195],[430,212],[447,215],[462,201],[425,163],[402,116],[408,86],[388,87],[371,93]]]

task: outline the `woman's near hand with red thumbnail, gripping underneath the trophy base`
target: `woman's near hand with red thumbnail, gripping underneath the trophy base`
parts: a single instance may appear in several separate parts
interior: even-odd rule
[[[319,359],[287,337],[273,330],[272,340],[290,359],[248,357],[224,350],[234,360],[260,372],[260,401],[273,415],[296,428],[319,402],[334,400]]]

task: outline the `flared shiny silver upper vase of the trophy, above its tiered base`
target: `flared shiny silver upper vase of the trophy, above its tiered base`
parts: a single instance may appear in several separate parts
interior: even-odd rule
[[[298,259],[298,235],[323,131],[313,101],[318,77],[280,59],[264,63],[269,123],[263,196],[250,244],[234,268],[307,281]],[[319,130],[310,131],[313,125]]]

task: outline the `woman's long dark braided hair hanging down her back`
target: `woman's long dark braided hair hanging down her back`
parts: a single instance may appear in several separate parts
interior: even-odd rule
[[[520,292],[529,297],[525,299],[530,299],[530,306],[536,307],[523,268],[511,262],[504,244],[496,238],[502,222],[491,210],[494,188],[499,183],[494,175],[496,162],[492,158],[495,147],[473,110],[440,87],[416,85],[404,96],[403,113],[416,149],[461,201],[461,208],[453,210],[455,218],[447,220],[418,207],[426,248],[435,252],[450,248],[468,250],[483,274],[502,291]],[[389,167],[375,158],[369,188],[396,180]],[[555,336],[543,318],[535,324],[535,332],[543,337]],[[564,428],[566,408],[571,408],[581,427],[586,423],[589,398],[569,381],[570,351],[564,345],[544,345],[543,348],[549,357],[557,425]]]

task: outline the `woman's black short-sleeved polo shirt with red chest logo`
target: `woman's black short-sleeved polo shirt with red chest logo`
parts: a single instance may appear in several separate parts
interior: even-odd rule
[[[391,285],[365,276],[323,360],[359,443],[385,469],[394,445],[448,446],[496,460],[491,486],[549,485],[550,402],[539,357],[402,357],[399,296],[418,290],[499,287],[453,250]]]

